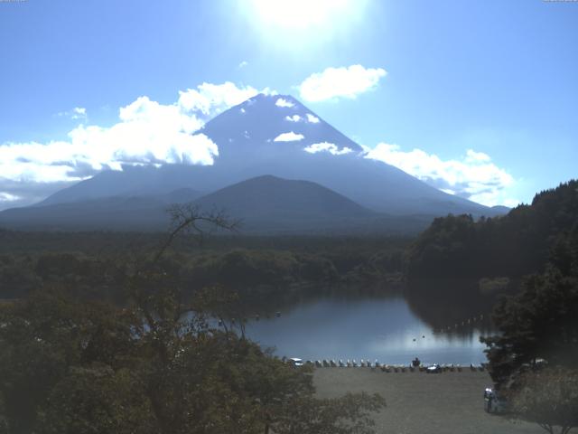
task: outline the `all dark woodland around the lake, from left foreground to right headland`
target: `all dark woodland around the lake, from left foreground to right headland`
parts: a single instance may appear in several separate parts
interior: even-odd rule
[[[311,368],[230,324],[364,291],[403,291],[433,325],[495,305],[489,373],[517,417],[578,423],[578,389],[564,389],[578,365],[578,182],[503,217],[436,219],[415,240],[207,236],[182,228],[227,220],[178,217],[164,234],[0,231],[0,433],[374,432],[382,397],[317,399]]]

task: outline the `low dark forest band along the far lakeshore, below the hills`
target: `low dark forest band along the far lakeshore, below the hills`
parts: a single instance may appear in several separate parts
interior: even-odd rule
[[[117,244],[92,232],[62,234],[51,250],[50,234],[4,232],[0,253],[0,298],[25,297],[34,289],[73,288],[87,299],[126,302],[126,276],[143,251],[154,250],[156,234],[120,234]],[[48,237],[48,238],[47,238]],[[188,293],[210,285],[235,289],[243,299],[320,294],[344,286],[398,282],[406,240],[245,239],[217,237],[199,247],[185,238],[163,257]],[[236,247],[236,246],[241,247]],[[48,246],[47,246],[48,247]],[[76,247],[76,249],[75,249]],[[263,300],[265,301],[265,300]]]

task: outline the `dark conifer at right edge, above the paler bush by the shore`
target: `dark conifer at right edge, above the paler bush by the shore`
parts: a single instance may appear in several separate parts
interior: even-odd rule
[[[500,334],[482,338],[488,345],[489,373],[497,387],[508,387],[520,369],[578,366],[578,280],[551,269],[527,278],[516,297],[504,298],[494,309]]]

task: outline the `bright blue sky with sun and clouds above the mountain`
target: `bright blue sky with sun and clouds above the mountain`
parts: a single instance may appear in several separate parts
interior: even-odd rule
[[[0,209],[81,179],[53,156],[80,165],[77,138],[98,147],[139,97],[170,108],[194,90],[209,116],[240,102],[227,82],[238,99],[292,94],[371,156],[480,203],[578,175],[578,3],[0,1],[0,38]],[[82,163],[114,167],[93,154]]]

